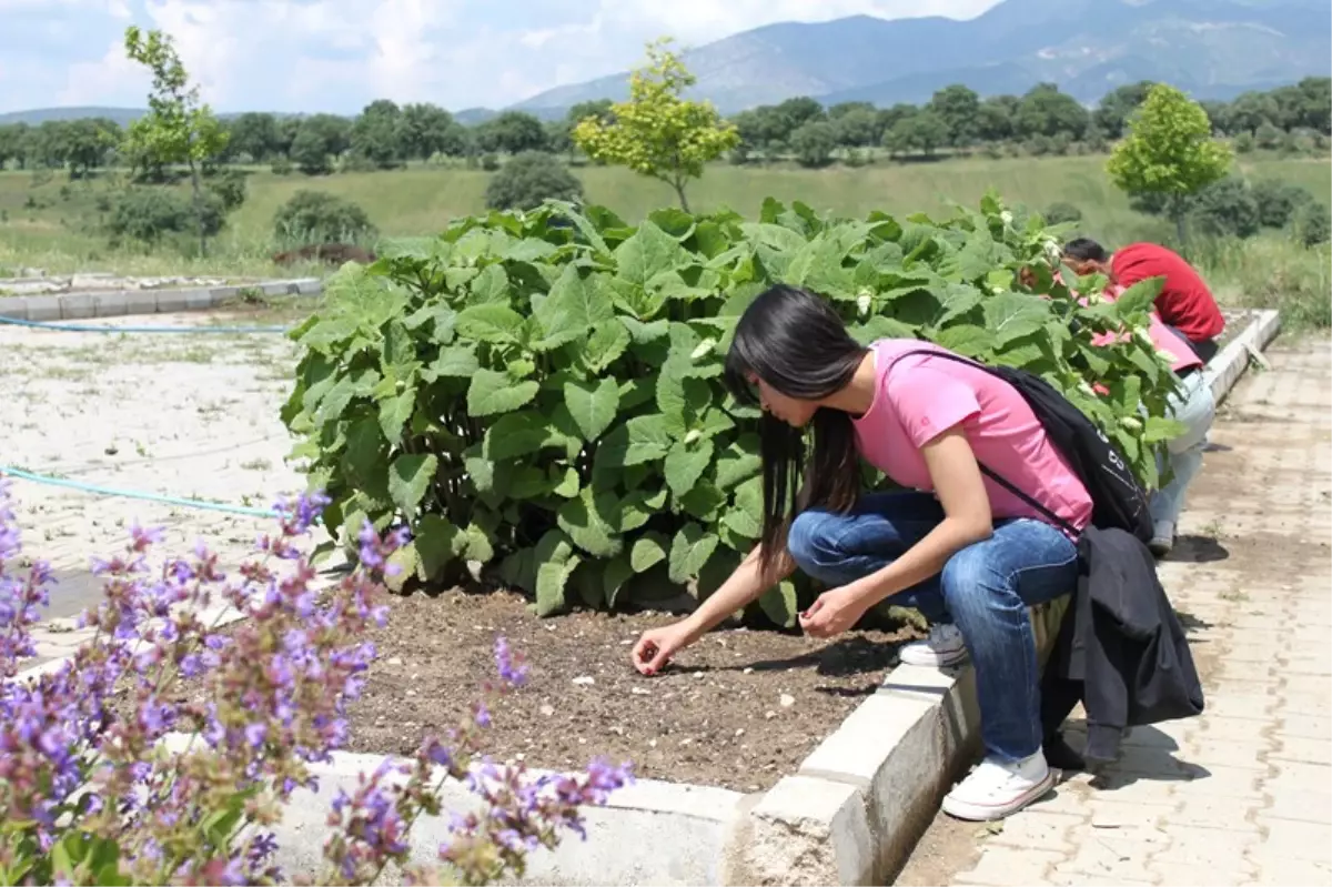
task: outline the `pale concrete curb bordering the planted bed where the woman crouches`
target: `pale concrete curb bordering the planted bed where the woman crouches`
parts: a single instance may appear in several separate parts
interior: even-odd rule
[[[1280,329],[1277,312],[1253,322],[1208,365],[1224,400]],[[1261,360],[1259,357],[1259,360]],[[1042,666],[1067,599],[1031,611]],[[20,677],[59,667],[56,659]],[[743,795],[710,786],[643,780],[587,808],[587,836],[567,836],[529,858],[523,883],[539,887],[878,887],[891,883],[979,746],[971,666],[898,666],[883,685],[773,788]],[[321,791],[286,806],[276,835],[288,871],[320,867],[325,815],[380,755],[337,752],[320,766]],[[446,783],[444,810],[477,800]],[[432,862],[448,816],[418,823],[413,858]]]

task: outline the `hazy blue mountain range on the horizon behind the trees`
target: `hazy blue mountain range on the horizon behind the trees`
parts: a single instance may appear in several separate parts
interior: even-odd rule
[[[1195,99],[1233,99],[1308,76],[1332,75],[1332,0],[1003,0],[975,19],[782,23],[690,49],[694,97],[726,115],[793,96],[825,104],[920,104],[962,83],[982,96],[1054,83],[1086,104],[1142,80]],[[621,100],[627,72],[558,87],[511,105],[543,119],[581,103]],[[141,111],[53,108],[0,115],[0,124]],[[469,108],[464,123],[496,112]]]

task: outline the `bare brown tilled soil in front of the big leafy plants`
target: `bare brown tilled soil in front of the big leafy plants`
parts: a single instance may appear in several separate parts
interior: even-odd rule
[[[465,718],[494,671],[503,635],[529,682],[490,705],[486,748],[533,767],[630,760],[639,778],[762,791],[794,772],[896,665],[914,630],[799,634],[717,630],[645,678],[630,663],[665,614],[574,613],[538,619],[509,593],[390,601],[378,659],[350,706],[350,750],[412,754],[426,733]]]

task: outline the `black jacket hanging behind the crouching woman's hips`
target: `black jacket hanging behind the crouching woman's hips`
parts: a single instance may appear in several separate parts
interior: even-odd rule
[[[1042,678],[1042,725],[1047,743],[1062,744],[1059,727],[1080,701],[1086,756],[1110,762],[1126,727],[1201,714],[1203,686],[1147,546],[1087,527],[1078,554],[1078,590]]]

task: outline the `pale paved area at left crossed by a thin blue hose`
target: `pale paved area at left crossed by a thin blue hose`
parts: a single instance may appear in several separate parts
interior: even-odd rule
[[[159,314],[155,325],[208,322]],[[107,324],[143,324],[129,317]],[[0,465],[116,489],[270,507],[304,489],[285,465],[278,410],[296,348],[278,334],[105,334],[0,326]],[[60,581],[37,662],[83,639],[71,617],[101,598],[89,558],[120,550],[133,521],[161,526],[157,554],[198,538],[224,567],[240,563],[268,518],[112,498],[11,479],[24,554],[49,561]],[[33,662],[33,665],[37,665]]]

